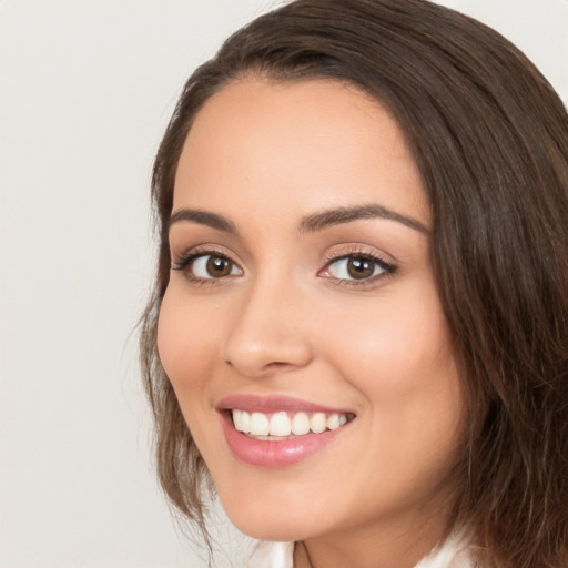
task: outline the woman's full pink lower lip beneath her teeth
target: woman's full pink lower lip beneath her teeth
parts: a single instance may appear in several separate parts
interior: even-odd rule
[[[242,462],[260,467],[285,467],[297,464],[320,452],[345,428],[322,434],[304,434],[290,439],[260,440],[239,432],[227,413],[221,414],[226,442],[233,454]]]

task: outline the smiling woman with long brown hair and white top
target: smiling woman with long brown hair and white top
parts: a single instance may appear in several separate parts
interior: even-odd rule
[[[510,43],[292,2],[190,78],[153,200],[159,474],[205,535],[212,481],[290,542],[255,566],[567,565],[568,119]]]

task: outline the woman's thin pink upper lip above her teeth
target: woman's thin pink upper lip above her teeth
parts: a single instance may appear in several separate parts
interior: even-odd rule
[[[320,412],[348,414],[348,410],[331,408],[310,400],[302,400],[292,396],[266,396],[266,395],[230,395],[225,396],[215,405],[219,410],[246,410],[248,413],[277,413],[284,412]]]

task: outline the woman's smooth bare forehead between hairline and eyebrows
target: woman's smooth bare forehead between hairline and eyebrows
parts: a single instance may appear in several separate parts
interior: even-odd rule
[[[390,113],[335,80],[236,80],[197,113],[180,159],[178,206],[225,213],[270,199],[300,213],[379,202],[428,223],[429,207]],[[190,202],[190,203],[189,203]],[[301,211],[302,210],[302,211]]]

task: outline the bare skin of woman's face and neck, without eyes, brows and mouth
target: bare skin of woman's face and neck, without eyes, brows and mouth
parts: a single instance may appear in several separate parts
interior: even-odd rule
[[[415,224],[300,229],[306,215],[368,204]],[[430,212],[397,123],[332,80],[234,81],[189,133],[173,212],[183,209],[235,229],[172,223],[174,265],[189,251],[233,264],[224,277],[204,262],[173,270],[158,339],[229,517],[255,538],[301,541],[298,568],[414,566],[444,535],[464,400]],[[346,261],[329,261],[353,254],[396,268],[353,280]],[[234,394],[293,396],[356,418],[323,450],[268,469],[227,446],[216,404]]]

